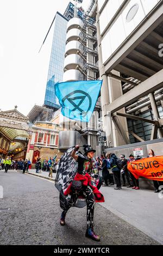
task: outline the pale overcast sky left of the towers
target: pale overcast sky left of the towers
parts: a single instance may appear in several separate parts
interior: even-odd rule
[[[39,49],[57,11],[69,0],[1,0],[0,85],[2,111],[14,109],[27,115],[42,105],[51,54],[52,34]],[[73,0],[72,0],[73,2]],[[86,8],[90,0],[83,0]]]

